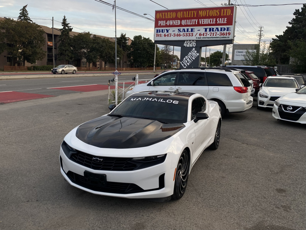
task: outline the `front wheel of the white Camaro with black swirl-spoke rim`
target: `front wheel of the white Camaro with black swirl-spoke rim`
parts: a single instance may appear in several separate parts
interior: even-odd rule
[[[172,199],[178,200],[181,199],[185,193],[188,175],[190,168],[190,156],[187,150],[184,150],[178,160],[176,171],[175,171],[175,180],[174,180],[174,189]]]

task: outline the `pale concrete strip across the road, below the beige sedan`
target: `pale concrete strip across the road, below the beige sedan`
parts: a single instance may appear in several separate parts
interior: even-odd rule
[[[160,74],[160,71],[122,71],[121,75],[146,75],[146,74]],[[20,71],[20,72],[0,72],[0,80],[21,80],[21,79],[47,79],[47,78],[78,78],[78,77],[92,77],[92,76],[114,76],[111,71],[78,71],[76,74],[53,74],[50,71]]]

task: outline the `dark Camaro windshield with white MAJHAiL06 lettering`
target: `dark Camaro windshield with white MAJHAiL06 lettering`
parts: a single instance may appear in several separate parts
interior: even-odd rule
[[[185,123],[188,101],[163,97],[130,96],[110,113],[110,116],[137,117],[164,123]]]

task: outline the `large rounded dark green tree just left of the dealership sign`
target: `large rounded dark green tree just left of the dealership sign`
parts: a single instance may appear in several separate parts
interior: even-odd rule
[[[150,38],[134,36],[127,56],[136,67],[153,66],[155,44]]]

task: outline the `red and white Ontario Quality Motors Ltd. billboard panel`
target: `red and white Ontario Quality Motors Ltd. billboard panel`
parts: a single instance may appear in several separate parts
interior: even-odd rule
[[[235,6],[156,10],[154,40],[233,40]]]

